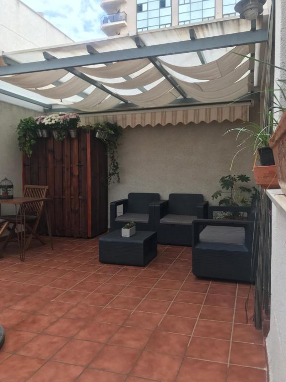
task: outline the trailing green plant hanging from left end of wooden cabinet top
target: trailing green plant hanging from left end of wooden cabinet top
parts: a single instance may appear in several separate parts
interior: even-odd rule
[[[27,157],[32,155],[32,146],[36,143],[38,125],[34,117],[20,120],[17,126],[18,145]]]

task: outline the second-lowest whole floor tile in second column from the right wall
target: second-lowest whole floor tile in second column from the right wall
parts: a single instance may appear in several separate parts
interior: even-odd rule
[[[209,320],[198,320],[194,335],[198,337],[230,340],[231,323]]]

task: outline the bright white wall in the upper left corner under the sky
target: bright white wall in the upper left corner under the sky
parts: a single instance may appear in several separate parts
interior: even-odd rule
[[[32,49],[72,42],[19,0],[0,0],[0,51]]]

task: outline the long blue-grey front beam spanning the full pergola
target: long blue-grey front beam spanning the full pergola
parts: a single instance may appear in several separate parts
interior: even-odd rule
[[[13,66],[0,67],[0,76],[20,73],[42,72],[56,69],[67,69],[80,66],[107,64],[110,62],[138,60],[141,58],[168,56],[188,52],[199,52],[227,48],[232,46],[257,44],[266,42],[267,29],[225,34],[221,36],[198,38],[197,40],[177,41],[166,44],[143,46],[141,49],[131,48],[120,51],[102,52],[75,57],[59,58],[53,61],[37,61]]]

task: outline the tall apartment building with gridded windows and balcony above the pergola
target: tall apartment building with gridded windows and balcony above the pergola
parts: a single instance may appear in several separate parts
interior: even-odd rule
[[[108,36],[236,16],[237,0],[102,0]]]

